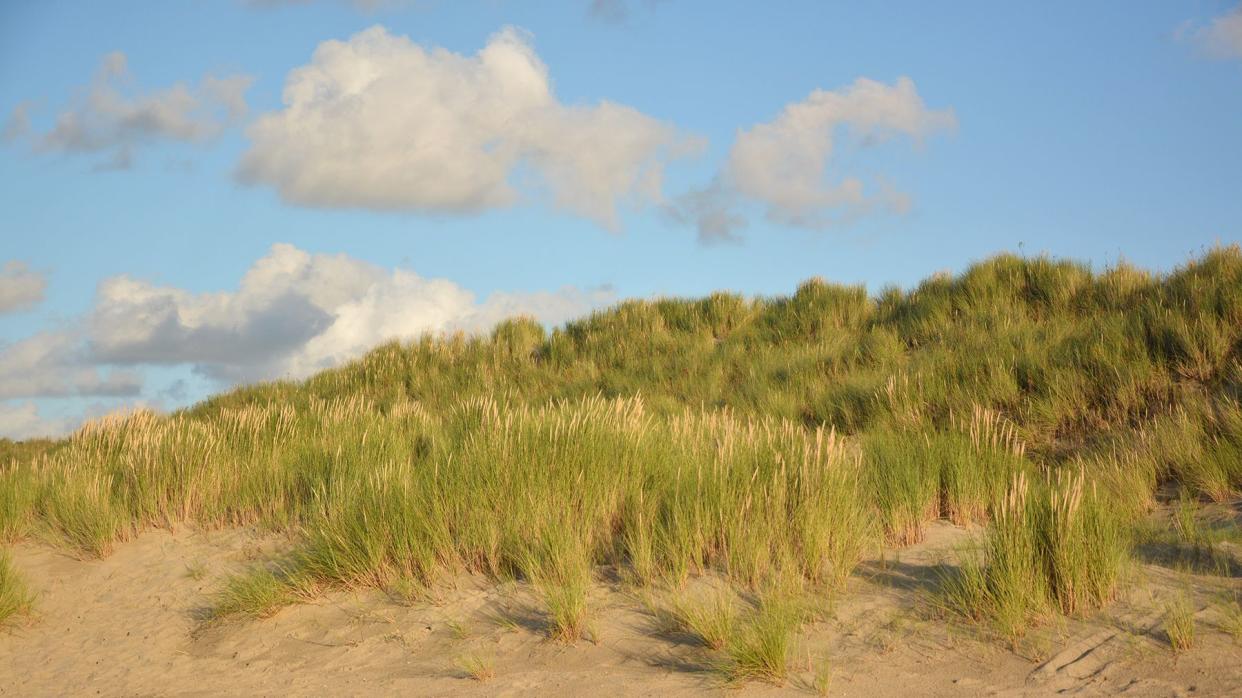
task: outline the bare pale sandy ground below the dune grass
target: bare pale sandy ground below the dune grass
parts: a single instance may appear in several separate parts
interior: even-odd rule
[[[36,614],[0,631],[0,696],[679,696],[811,694],[831,667],[832,696],[1242,696],[1242,647],[1216,601],[1237,576],[1155,564],[1108,611],[1032,633],[1010,648],[928,614],[934,565],[966,535],[936,524],[923,544],[866,563],[831,616],[800,637],[782,687],[724,686],[705,650],[662,636],[623,589],[601,580],[596,642],[545,640],[529,592],[462,579],[435,604],[334,594],[260,621],[204,627],[224,575],[272,554],[252,532],[154,530],[106,560],[21,544],[17,566]],[[1197,645],[1175,657],[1160,609],[1192,590]],[[472,679],[462,657],[492,663]]]

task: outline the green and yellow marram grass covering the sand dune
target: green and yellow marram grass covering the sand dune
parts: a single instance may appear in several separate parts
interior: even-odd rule
[[[941,517],[987,524],[946,606],[1012,637],[1107,604],[1160,486],[1242,491],[1238,400],[1236,246],[1163,276],[1004,255],[905,292],[812,279],[550,333],[510,319],[4,443],[0,542],[102,556],[148,527],[261,525],[294,545],[231,580],[220,616],[473,571],[530,582],[570,642],[600,566],[673,589],[710,573],[754,619],[710,642],[733,676],[779,681],[790,599]]]

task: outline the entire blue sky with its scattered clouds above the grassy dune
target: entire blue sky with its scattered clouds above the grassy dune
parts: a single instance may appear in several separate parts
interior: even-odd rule
[[[1240,7],[5,2],[0,436],[514,312],[1169,270],[1242,238]]]

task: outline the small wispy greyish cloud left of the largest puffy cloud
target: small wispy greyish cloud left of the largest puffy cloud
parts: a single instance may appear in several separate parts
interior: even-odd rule
[[[39,152],[104,154],[103,168],[128,168],[134,149],[156,142],[200,143],[246,114],[248,76],[206,76],[197,86],[175,83],[149,93],[132,88],[125,55],[108,53],[94,79],[62,111],[50,130],[35,135]],[[14,137],[29,130],[25,106],[15,112]],[[21,127],[21,128],[17,128]],[[9,130],[9,129],[6,129]]]

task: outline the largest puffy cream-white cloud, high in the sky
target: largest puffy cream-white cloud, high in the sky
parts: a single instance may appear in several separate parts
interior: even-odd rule
[[[546,188],[615,230],[619,205],[658,202],[664,163],[697,147],[631,107],[561,103],[514,29],[473,56],[381,26],[325,41],[283,101],[247,129],[238,174],[306,206],[476,212]]]

